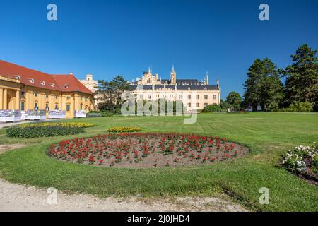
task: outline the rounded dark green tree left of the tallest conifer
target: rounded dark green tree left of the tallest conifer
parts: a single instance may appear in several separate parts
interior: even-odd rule
[[[261,105],[264,110],[277,108],[283,99],[283,84],[279,71],[269,58],[256,59],[247,72],[244,105],[254,108]]]

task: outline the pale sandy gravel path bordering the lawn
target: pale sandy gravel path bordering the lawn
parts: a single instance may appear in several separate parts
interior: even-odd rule
[[[0,153],[21,146],[0,145]],[[245,208],[228,201],[226,197],[100,199],[59,191],[55,196],[54,193],[48,193],[47,189],[35,189],[33,186],[12,184],[0,179],[0,211],[245,211]]]

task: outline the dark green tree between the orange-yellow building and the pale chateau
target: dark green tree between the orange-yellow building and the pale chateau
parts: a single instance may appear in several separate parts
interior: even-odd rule
[[[118,109],[122,105],[121,95],[124,90],[129,89],[128,82],[123,76],[118,75],[110,82],[100,80],[98,83],[99,86],[96,93],[102,96],[99,109],[108,110],[114,113],[118,112]]]

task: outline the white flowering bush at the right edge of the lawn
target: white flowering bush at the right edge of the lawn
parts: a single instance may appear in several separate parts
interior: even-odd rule
[[[288,152],[283,157],[283,165],[295,172],[305,173],[308,169],[317,174],[318,146],[299,145]]]

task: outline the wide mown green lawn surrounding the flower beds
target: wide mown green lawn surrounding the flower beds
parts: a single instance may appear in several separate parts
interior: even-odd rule
[[[244,159],[200,167],[119,169],[59,162],[45,151],[57,138],[8,138],[0,143],[28,143],[0,155],[0,177],[40,187],[96,196],[213,196],[227,191],[252,210],[318,211],[318,188],[278,164],[295,145],[318,141],[318,114],[249,113],[199,114],[196,124],[182,117],[106,117],[73,119],[95,124],[77,137],[106,133],[110,126],[141,126],[146,131],[175,131],[223,136],[250,148]],[[76,136],[67,136],[75,138]],[[269,205],[259,204],[259,189],[269,189]]]

